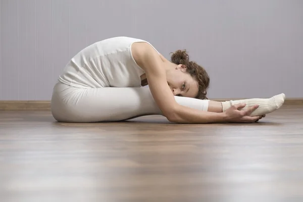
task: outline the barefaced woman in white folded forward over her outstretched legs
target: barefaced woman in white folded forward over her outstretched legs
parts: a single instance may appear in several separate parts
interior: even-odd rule
[[[285,95],[215,102],[210,79],[185,51],[165,59],[149,42],[114,37],[80,51],[59,76],[51,108],[59,122],[109,122],[163,115],[176,123],[255,122]],[[147,85],[148,87],[144,85]]]

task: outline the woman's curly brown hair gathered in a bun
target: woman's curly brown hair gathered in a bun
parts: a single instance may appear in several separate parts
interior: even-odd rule
[[[195,62],[189,61],[189,56],[186,49],[178,50],[171,54],[171,62],[176,65],[185,65],[186,72],[188,72],[198,82],[198,94],[195,98],[208,99],[206,94],[210,85],[210,77],[206,70]]]

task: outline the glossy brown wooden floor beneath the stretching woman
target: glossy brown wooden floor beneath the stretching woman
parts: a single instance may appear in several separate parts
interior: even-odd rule
[[[303,201],[303,106],[205,125],[0,111],[0,201]]]

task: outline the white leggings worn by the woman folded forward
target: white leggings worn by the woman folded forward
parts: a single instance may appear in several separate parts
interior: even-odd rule
[[[209,100],[179,96],[175,99],[180,105],[208,110]],[[163,115],[148,86],[78,88],[57,82],[51,109],[59,122],[111,122],[144,115]]]

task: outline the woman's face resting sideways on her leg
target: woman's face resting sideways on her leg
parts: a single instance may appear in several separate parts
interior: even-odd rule
[[[186,72],[185,65],[178,65],[166,73],[167,83],[176,96],[196,97],[198,82]]]

